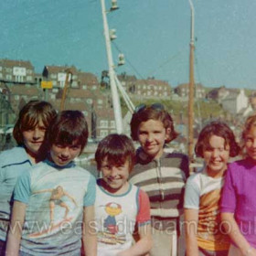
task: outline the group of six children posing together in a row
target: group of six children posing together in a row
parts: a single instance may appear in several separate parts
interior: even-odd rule
[[[89,136],[83,114],[29,101],[18,145],[0,155],[0,255],[176,256],[185,209],[188,256],[256,256],[256,115],[241,145],[226,123],[206,125],[195,148],[205,164],[192,176],[187,155],[166,147],[177,135],[162,104],[139,105],[139,148],[123,134],[103,138],[95,180],[74,163]]]

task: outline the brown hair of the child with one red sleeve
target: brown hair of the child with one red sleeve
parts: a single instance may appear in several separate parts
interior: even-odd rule
[[[133,141],[126,135],[117,133],[110,134],[102,139],[95,153],[98,170],[101,170],[101,164],[105,159],[111,166],[123,165],[128,160],[129,171],[131,172],[134,158]]]

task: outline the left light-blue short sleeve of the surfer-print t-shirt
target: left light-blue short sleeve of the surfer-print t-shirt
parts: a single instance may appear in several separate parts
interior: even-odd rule
[[[30,173],[19,176],[16,182],[16,187],[14,190],[14,199],[20,201],[24,204],[28,204],[28,200],[31,194],[31,177]]]

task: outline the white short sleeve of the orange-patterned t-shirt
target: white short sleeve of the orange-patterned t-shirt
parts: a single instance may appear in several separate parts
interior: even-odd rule
[[[190,176],[187,179],[185,188],[184,208],[199,208],[200,191],[197,183],[195,182],[195,176]]]

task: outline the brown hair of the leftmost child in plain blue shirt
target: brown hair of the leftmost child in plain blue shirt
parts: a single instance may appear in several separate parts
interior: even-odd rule
[[[47,101],[29,101],[21,109],[14,127],[14,138],[18,145],[24,144],[23,132],[33,130],[41,121],[45,128],[56,116],[56,111]]]

